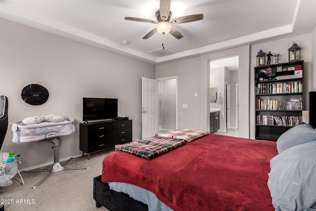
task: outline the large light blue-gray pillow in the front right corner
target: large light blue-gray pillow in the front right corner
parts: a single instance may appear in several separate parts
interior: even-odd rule
[[[316,141],[276,155],[270,167],[268,187],[276,211],[316,210]]]

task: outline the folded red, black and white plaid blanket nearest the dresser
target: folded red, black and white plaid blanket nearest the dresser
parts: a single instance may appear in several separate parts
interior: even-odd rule
[[[150,160],[184,144],[186,144],[185,140],[154,136],[143,140],[136,140],[128,144],[115,145],[115,150]]]

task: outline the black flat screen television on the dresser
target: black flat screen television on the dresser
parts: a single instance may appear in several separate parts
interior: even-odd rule
[[[106,120],[118,117],[117,98],[83,97],[82,120]]]

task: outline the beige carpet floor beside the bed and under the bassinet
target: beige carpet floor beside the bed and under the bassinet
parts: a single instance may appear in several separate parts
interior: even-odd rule
[[[25,185],[13,179],[11,186],[0,187],[4,211],[107,211],[104,207],[95,206],[93,178],[101,174],[102,161],[108,153],[107,150],[93,153],[90,160],[87,155],[74,158],[65,168],[91,169],[59,171],[36,189],[32,187],[49,172],[22,172]]]

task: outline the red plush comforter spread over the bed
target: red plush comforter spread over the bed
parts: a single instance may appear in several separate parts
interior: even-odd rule
[[[174,211],[274,211],[267,186],[276,142],[208,134],[153,160],[116,151],[102,181],[145,188]]]

